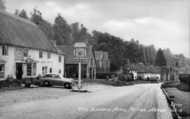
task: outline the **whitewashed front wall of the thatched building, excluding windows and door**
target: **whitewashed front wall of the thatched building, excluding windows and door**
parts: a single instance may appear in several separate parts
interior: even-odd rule
[[[39,51],[29,49],[28,50],[28,57],[32,58],[34,61],[37,62],[36,67],[36,75],[42,75],[42,67],[47,67],[47,73],[49,73],[50,68],[52,68],[52,73],[58,74],[59,70],[61,71],[61,75],[64,75],[64,56],[61,55],[61,62],[59,62],[59,55],[56,53],[51,53],[51,58],[48,59],[47,57],[48,52],[43,51],[43,58],[39,58]],[[5,77],[7,78],[8,75],[13,76],[16,78],[16,62],[23,62],[16,60],[16,47],[9,46],[8,47],[8,56],[2,56],[2,46],[0,45],[0,59],[6,61],[5,63]],[[26,67],[23,66],[23,77],[26,76]],[[3,79],[0,79],[3,80]]]

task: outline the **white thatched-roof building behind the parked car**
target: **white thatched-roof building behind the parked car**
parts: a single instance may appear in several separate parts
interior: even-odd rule
[[[64,55],[30,21],[0,11],[0,80],[64,74]]]

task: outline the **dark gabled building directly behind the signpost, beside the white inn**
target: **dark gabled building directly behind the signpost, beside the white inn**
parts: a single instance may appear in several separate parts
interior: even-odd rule
[[[75,48],[77,45],[82,45],[83,49],[77,50]],[[95,79],[96,74],[96,63],[95,55],[92,50],[92,45],[86,42],[76,42],[72,45],[62,45],[59,46],[59,49],[65,53],[65,76],[69,78],[77,78],[79,70],[79,60],[81,62],[81,76],[82,78]],[[79,46],[80,47],[80,46]],[[83,53],[82,53],[83,52]],[[84,54],[85,57],[78,59],[76,54]]]

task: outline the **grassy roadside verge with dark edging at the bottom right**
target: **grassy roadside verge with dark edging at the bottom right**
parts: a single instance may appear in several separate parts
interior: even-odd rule
[[[180,82],[178,81],[162,84],[170,107],[173,109],[174,119],[178,119],[176,114],[182,117],[182,119],[190,119],[190,92],[180,90],[179,87]]]

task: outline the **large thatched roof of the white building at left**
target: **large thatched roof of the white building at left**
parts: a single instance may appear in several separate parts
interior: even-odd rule
[[[38,26],[4,11],[0,11],[0,44],[56,52]]]

